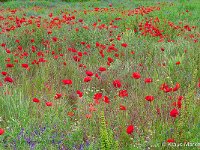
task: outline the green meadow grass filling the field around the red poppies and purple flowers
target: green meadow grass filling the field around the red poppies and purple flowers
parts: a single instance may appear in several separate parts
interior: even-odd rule
[[[163,143],[168,138],[174,138],[176,142],[185,140],[198,142],[199,135],[196,133],[199,131],[200,105],[199,97],[196,94],[199,92],[196,85],[200,76],[198,67],[200,59],[198,42],[193,42],[198,38],[197,32],[199,31],[198,14],[200,9],[196,4],[198,0],[191,0],[190,3],[186,0],[173,1],[173,5],[165,0],[160,0],[160,4],[156,3],[157,0],[96,1],[99,0],[10,0],[1,3],[1,16],[7,18],[5,21],[2,20],[3,28],[7,22],[10,22],[8,16],[10,19],[12,16],[14,18],[24,17],[26,20],[29,20],[31,16],[36,18],[40,16],[41,26],[38,28],[36,23],[27,26],[22,24],[20,28],[0,34],[0,44],[6,43],[6,48],[11,50],[11,54],[7,54],[5,49],[0,46],[0,70],[7,71],[8,75],[15,80],[14,84],[7,84],[4,82],[4,76],[0,75],[0,83],[3,83],[3,86],[0,87],[0,120],[2,120],[0,128],[6,130],[5,134],[0,136],[0,149],[5,149],[2,146],[2,143],[5,143],[2,139],[6,139],[9,145],[16,139],[22,127],[29,132],[28,135],[31,135],[32,128],[37,128],[41,124],[47,124],[49,129],[41,137],[43,143],[40,144],[41,146],[38,144],[36,149],[45,149],[45,146],[49,144],[45,142],[48,141],[51,133],[56,132],[67,133],[64,141],[69,149],[74,149],[74,143],[83,143],[83,138],[84,142],[85,139],[89,141],[89,146],[84,147],[86,150],[99,148],[102,150],[128,150],[134,149],[135,143],[136,146],[141,144],[138,148],[145,149],[150,144]],[[109,7],[109,2],[112,2],[112,8]],[[123,14],[129,9],[132,10],[139,6],[159,6],[160,10],[144,16],[128,17]],[[95,7],[108,8],[108,10],[93,11]],[[17,10],[16,14],[10,13],[12,9]],[[186,13],[186,10],[189,12]],[[50,13],[53,14],[51,18],[49,17]],[[24,14],[26,15],[23,16]],[[61,23],[61,27],[53,27],[52,34],[47,34],[45,20],[49,22],[56,17],[62,19],[63,14],[74,15],[76,18],[71,23],[75,22],[75,24]],[[118,17],[121,20],[115,20]],[[159,18],[159,22],[153,25],[163,31],[162,33],[167,37],[166,41],[157,42],[159,40],[157,37],[151,37],[148,34],[141,35],[139,24],[145,24],[146,20],[154,20],[156,17]],[[79,19],[83,19],[83,22],[80,23]],[[101,21],[99,22],[98,19]],[[112,20],[115,21],[111,22]],[[196,26],[196,29],[191,31],[175,30],[168,25],[168,21],[180,28],[189,25],[190,27]],[[95,22],[97,27],[93,28],[92,25]],[[11,23],[13,22],[11,21]],[[110,23],[118,28],[112,29]],[[98,27],[102,24],[108,26],[108,29],[99,30]],[[11,25],[15,25],[15,22],[8,27]],[[82,28],[83,26],[88,26],[89,29],[86,30]],[[79,31],[77,32],[75,28],[78,28]],[[35,32],[31,32],[31,30],[35,30]],[[112,36],[109,35],[109,31],[112,32]],[[179,33],[181,35],[177,36]],[[121,41],[109,41],[111,38],[116,39],[118,35],[121,36]],[[52,43],[52,37],[57,37],[58,42]],[[19,39],[20,43],[16,43],[16,39]],[[30,39],[34,39],[35,42],[31,43]],[[41,44],[43,39],[50,41],[50,47],[47,48]],[[174,40],[174,42],[167,42],[168,39]],[[81,45],[82,41],[90,44],[91,48],[87,49],[85,45]],[[115,44],[120,55],[119,58],[114,59],[114,62],[107,66],[107,58],[114,58],[114,53],[107,53],[106,48],[105,57],[101,58],[100,49],[95,46],[96,42],[105,44],[107,48]],[[125,49],[121,47],[123,42],[128,43],[128,47]],[[33,60],[38,60],[37,52],[30,53],[28,57],[16,58],[12,53],[16,52],[18,45],[23,47],[23,52],[28,53],[31,51],[32,45],[36,46],[37,52],[45,53],[44,58],[48,62],[32,65]],[[79,67],[77,69],[78,63],[74,63],[73,54],[68,52],[68,47],[74,47],[79,52],[88,52],[88,56],[83,56],[80,62],[87,68]],[[165,50],[161,51],[161,47]],[[47,50],[49,53],[46,53]],[[187,50],[187,53],[184,53],[184,50]],[[52,51],[55,52],[54,55],[51,54]],[[135,54],[130,54],[130,51],[134,51]],[[125,55],[122,56],[121,53],[125,53]],[[60,54],[63,56],[60,57]],[[53,56],[59,57],[55,59],[56,57]],[[10,63],[15,64],[15,68],[12,70],[6,68],[6,63],[9,62],[6,62],[5,59],[8,57],[11,59]],[[18,59],[19,62],[14,62],[15,59]],[[180,65],[176,65],[177,61],[181,62]],[[66,65],[63,65],[64,62]],[[30,70],[24,70],[21,67],[22,63],[28,63]],[[165,66],[162,66],[161,64],[164,63]],[[106,72],[100,73],[101,80],[94,77],[90,83],[81,82],[85,77],[85,70],[97,73],[99,66],[107,66]],[[134,71],[141,72],[141,79],[133,80],[131,78],[131,72]],[[144,83],[143,79],[147,77],[153,79],[151,84]],[[72,79],[73,86],[64,86],[63,79]],[[119,91],[113,88],[113,79],[122,80],[122,88],[128,90],[129,97],[115,98]],[[173,87],[175,83],[180,83],[181,88],[176,92],[164,93],[159,90],[160,85],[164,82],[170,87]],[[78,89],[84,93],[82,98],[76,97],[75,90]],[[96,112],[90,112],[88,104],[93,103],[92,97],[97,92],[102,92],[103,95],[110,98],[109,104],[101,101],[99,105],[93,106],[96,112],[99,111],[99,108],[105,108],[106,116],[104,112],[101,112],[100,116]],[[56,93],[62,93],[59,100],[54,98]],[[147,94],[155,96],[152,103],[145,101],[144,97]],[[179,95],[183,95],[184,99],[182,108],[178,109],[180,115],[174,119],[170,117],[169,111],[174,107],[171,104],[172,101],[177,101]],[[168,96],[172,97],[172,100],[169,100]],[[33,103],[33,97],[39,98],[41,103]],[[53,106],[46,107],[45,102],[47,101],[53,102]],[[119,109],[120,104],[126,107],[126,111]],[[79,112],[77,113],[73,107],[76,107]],[[156,112],[157,107],[161,111],[160,115]],[[69,117],[67,115],[69,111],[73,111],[75,115]],[[86,118],[86,115],[91,115],[91,118]],[[97,121],[99,118],[100,124]],[[111,123],[114,128],[107,125],[106,120],[109,120],[109,124]],[[137,126],[134,137],[125,132],[126,124],[130,120]],[[52,130],[54,124],[57,124],[59,128]],[[170,131],[166,134],[170,128],[173,129],[173,132]],[[115,136],[117,136],[117,140],[114,138]],[[146,137],[149,141],[146,141]],[[34,140],[40,141],[41,138],[34,137]],[[60,140],[59,138],[57,137],[56,140]],[[23,148],[29,149],[27,143],[18,141],[17,149]],[[56,149],[56,146],[50,144],[48,148]]]

